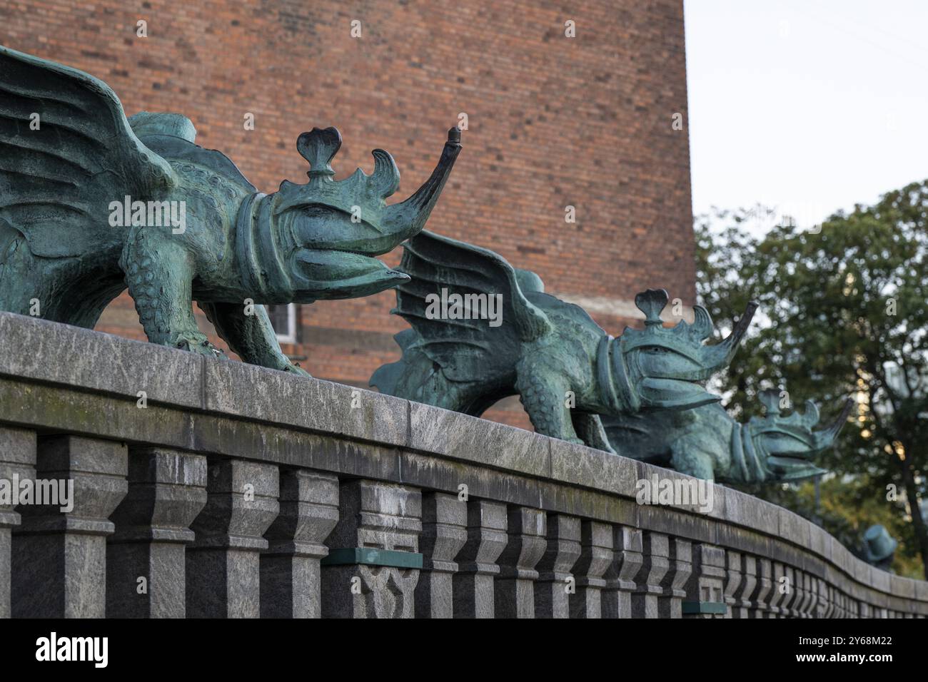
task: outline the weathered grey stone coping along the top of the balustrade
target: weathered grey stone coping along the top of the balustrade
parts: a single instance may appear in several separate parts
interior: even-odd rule
[[[139,410],[137,416],[129,413],[127,418],[124,410],[113,412],[108,403],[101,402],[103,396],[109,396],[122,398],[122,405],[124,399],[135,403],[139,392],[145,392],[148,400],[144,416]],[[454,471],[460,478],[460,467],[445,467],[443,474],[435,464],[437,457],[484,470],[477,478],[487,489],[503,491],[509,486],[522,500],[537,495],[535,500],[522,503],[534,501],[543,508],[569,507],[564,498],[570,494],[564,488],[579,488],[601,494],[586,499],[586,508],[592,509],[595,518],[655,530],[668,528],[672,533],[724,545],[738,535],[738,529],[727,533],[716,528],[710,534],[705,521],[719,521],[769,538],[769,547],[778,546],[781,555],[788,552],[788,547],[782,547],[784,542],[801,548],[826,564],[824,573],[836,570],[878,592],[928,602],[925,581],[876,569],[858,560],[814,523],[722,485],[713,485],[715,504],[707,515],[683,506],[640,506],[634,502],[638,480],[654,474],[664,479],[690,477],[378,392],[0,312],[0,422],[40,431],[65,428],[53,417],[46,418],[45,423],[33,417],[51,415],[52,405],[65,403],[71,405],[71,419],[74,409],[81,411],[86,431],[129,441],[133,439],[126,438],[126,432],[138,433],[140,442],[227,453],[240,447],[234,442],[241,440],[251,449],[244,452],[242,447],[239,457],[303,466],[310,466],[307,457],[318,457],[318,461],[313,459],[313,466],[340,470],[337,462],[329,461],[340,456],[339,447],[332,452],[331,443],[322,448],[313,435],[304,435],[322,434],[370,444],[380,453],[393,452],[393,458],[377,460],[377,471],[357,471],[358,475],[388,480],[410,480],[410,475],[418,475],[419,482],[431,482],[443,475],[453,477]],[[198,421],[198,415],[222,419]],[[236,425],[242,420],[267,427],[249,436]],[[272,440],[274,448],[267,445]],[[272,450],[274,457],[269,456]],[[328,467],[323,466],[327,461]],[[487,469],[508,475],[491,477]],[[560,485],[533,487],[530,483],[537,480]],[[455,489],[450,479],[435,487]],[[477,495],[477,491],[471,494]],[[616,506],[616,496],[630,504]],[[555,497],[556,502],[552,501]],[[753,542],[756,545],[756,540]]]

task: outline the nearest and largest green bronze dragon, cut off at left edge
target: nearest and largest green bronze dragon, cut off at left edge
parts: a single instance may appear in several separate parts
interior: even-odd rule
[[[290,364],[260,303],[367,296],[408,280],[373,256],[419,233],[460,150],[452,128],[409,199],[393,158],[335,182],[335,128],[300,135],[309,182],[265,195],[184,116],[126,119],[82,71],[0,46],[0,310],[93,328],[127,286],[148,341],[220,354],[197,301],[246,362]],[[164,219],[171,216],[171,221]]]

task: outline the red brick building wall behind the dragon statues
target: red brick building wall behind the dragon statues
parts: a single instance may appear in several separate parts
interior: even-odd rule
[[[139,19],[147,38],[135,34]],[[200,145],[268,192],[285,178],[305,182],[301,132],[336,125],[337,178],[358,165],[369,173],[370,149],[385,148],[405,198],[467,112],[429,229],[499,251],[551,293],[596,297],[591,313],[612,334],[624,323],[617,306],[646,287],[692,302],[680,0],[7,0],[0,44],[93,73],[127,114],[184,113]],[[683,130],[673,129],[677,112]],[[366,384],[399,356],[391,336],[405,323],[387,315],[392,306],[391,292],[303,306],[305,342],[286,350],[315,376]],[[125,294],[97,328],[144,338]]]

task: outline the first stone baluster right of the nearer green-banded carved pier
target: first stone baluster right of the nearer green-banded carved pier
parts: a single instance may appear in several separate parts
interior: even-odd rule
[[[422,570],[416,585],[417,618],[454,617],[455,558],[467,542],[467,502],[458,495],[422,495]]]

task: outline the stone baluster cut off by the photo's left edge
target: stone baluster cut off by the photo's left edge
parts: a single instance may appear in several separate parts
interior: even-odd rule
[[[14,526],[19,514],[13,511],[19,500],[21,483],[35,481],[35,433],[0,427],[0,618],[9,618],[10,562]],[[6,488],[6,491],[4,491]],[[6,497],[6,499],[3,499]],[[6,501],[8,500],[8,502]]]

